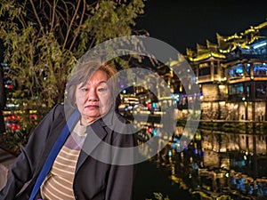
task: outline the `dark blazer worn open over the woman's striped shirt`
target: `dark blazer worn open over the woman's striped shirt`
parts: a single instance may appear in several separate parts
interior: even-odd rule
[[[74,194],[79,200],[130,200],[133,193],[134,164],[116,165],[107,164],[94,159],[89,151],[94,151],[99,144],[90,137],[90,129],[96,132],[99,139],[107,144],[117,147],[136,146],[134,134],[119,134],[114,132],[116,124],[113,116],[109,113],[108,120],[97,120],[87,127],[85,144],[90,147],[86,152],[84,148],[77,161],[77,169],[74,178]],[[106,116],[105,116],[106,117]],[[122,116],[118,119],[126,122]],[[6,186],[0,191],[1,200],[20,199],[26,200],[34,186],[38,173],[44,164],[46,157],[53,148],[63,126],[66,124],[64,107],[55,106],[44,120],[38,124],[32,132],[28,144],[21,148],[21,154],[17,157],[9,175]],[[91,130],[91,131],[92,131]],[[117,129],[116,129],[117,130]],[[89,150],[88,150],[89,149]],[[106,149],[107,150],[107,149]],[[105,154],[110,152],[106,151]],[[131,156],[131,155],[129,155]],[[111,159],[113,159],[111,157]],[[23,185],[28,186],[20,192]],[[15,197],[20,192],[20,195]],[[36,198],[37,199],[37,196]]]

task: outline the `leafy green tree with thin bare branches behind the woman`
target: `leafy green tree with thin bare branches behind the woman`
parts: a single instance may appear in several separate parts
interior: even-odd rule
[[[69,72],[96,44],[138,35],[135,20],[145,0],[1,0],[4,62],[27,108],[63,100]]]

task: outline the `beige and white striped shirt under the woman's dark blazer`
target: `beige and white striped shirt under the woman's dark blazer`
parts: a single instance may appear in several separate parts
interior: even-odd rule
[[[86,126],[78,122],[61,148],[41,186],[44,200],[74,200],[73,180],[77,158],[84,144]]]

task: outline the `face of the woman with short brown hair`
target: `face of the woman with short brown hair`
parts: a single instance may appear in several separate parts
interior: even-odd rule
[[[111,92],[107,84],[108,76],[97,70],[87,84],[78,84],[76,88],[76,104],[81,113],[81,124],[90,124],[109,112]]]

